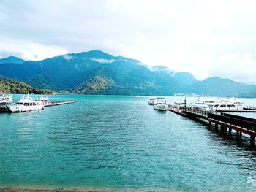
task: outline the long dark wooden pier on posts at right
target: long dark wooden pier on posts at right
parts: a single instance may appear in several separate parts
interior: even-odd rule
[[[249,110],[250,112],[252,112],[251,109],[246,109],[242,112],[248,112]],[[250,137],[251,144],[254,145],[255,143],[256,119],[226,113],[230,112],[229,110],[226,110],[225,112],[213,112],[207,110],[200,110],[200,108],[198,107],[175,107],[172,105],[169,105],[167,110],[175,112],[178,115],[186,116],[187,118],[201,118],[204,120],[208,120],[210,126],[211,123],[215,124],[215,128],[219,128],[220,126],[222,133],[225,134],[227,134],[227,132],[231,133],[232,130],[236,131],[236,137],[241,138],[242,134],[247,134]],[[256,112],[256,110],[254,110],[253,112]]]

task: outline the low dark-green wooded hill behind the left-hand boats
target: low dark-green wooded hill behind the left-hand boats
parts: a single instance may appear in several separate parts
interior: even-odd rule
[[[17,82],[14,80],[7,80],[4,77],[0,77],[0,92],[2,93],[34,93],[34,94],[53,94],[50,90],[39,90],[27,85],[24,82]]]

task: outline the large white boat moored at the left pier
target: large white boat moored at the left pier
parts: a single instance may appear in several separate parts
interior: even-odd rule
[[[42,110],[44,105],[42,101],[35,101],[28,94],[27,96],[23,96],[17,103],[8,105],[8,108],[10,112],[26,112]]]

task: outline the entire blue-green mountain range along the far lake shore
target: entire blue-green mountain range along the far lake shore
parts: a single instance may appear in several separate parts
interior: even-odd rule
[[[227,96],[256,90],[256,85],[219,77],[198,81],[187,72],[173,72],[165,66],[146,66],[138,60],[115,57],[101,50],[42,61],[4,58],[0,59],[0,75],[35,88],[83,94]]]

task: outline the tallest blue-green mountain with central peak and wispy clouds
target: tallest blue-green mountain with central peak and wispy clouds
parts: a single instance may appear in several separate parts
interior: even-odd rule
[[[23,64],[1,64],[0,74],[35,88],[87,94],[172,95],[186,89],[186,85],[167,73],[159,75],[138,60],[115,57],[100,50],[26,61]],[[99,86],[95,80],[99,80],[99,84],[105,81],[111,83]]]

